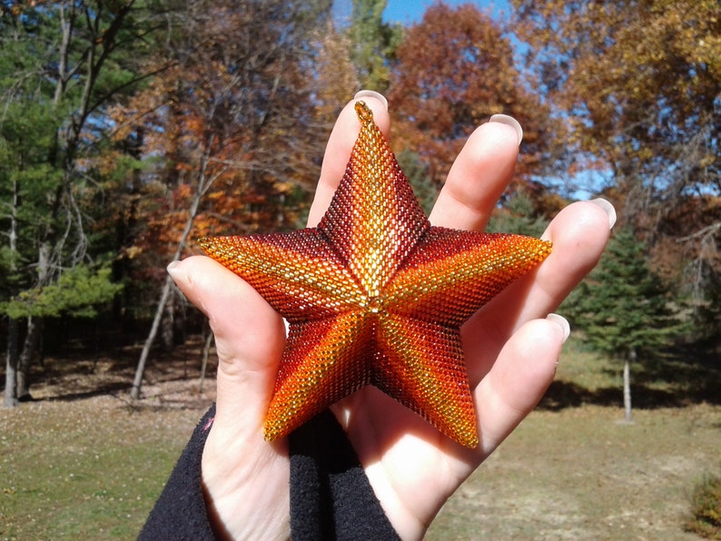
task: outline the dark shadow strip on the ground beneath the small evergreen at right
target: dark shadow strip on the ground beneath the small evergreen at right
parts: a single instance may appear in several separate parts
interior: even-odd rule
[[[618,369],[622,366],[618,361]],[[667,358],[631,365],[631,394],[635,408],[680,408],[706,402],[721,404],[721,366],[716,354],[677,351]],[[538,408],[558,411],[584,404],[623,407],[623,389],[587,389],[573,381],[551,383]]]

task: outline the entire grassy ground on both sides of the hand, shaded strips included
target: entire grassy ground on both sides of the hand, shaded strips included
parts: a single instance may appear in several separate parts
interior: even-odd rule
[[[0,409],[0,539],[133,539],[212,401],[191,355],[150,367],[140,404],[126,399],[134,352],[50,359],[35,401]],[[571,347],[547,398],[428,538],[694,538],[683,529],[694,484],[721,472],[721,378],[710,364],[662,365],[637,370],[627,425],[619,367]]]

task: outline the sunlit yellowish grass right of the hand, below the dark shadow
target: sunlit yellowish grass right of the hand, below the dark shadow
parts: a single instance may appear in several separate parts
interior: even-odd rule
[[[694,480],[721,467],[718,407],[531,414],[449,500],[428,539],[693,539]]]

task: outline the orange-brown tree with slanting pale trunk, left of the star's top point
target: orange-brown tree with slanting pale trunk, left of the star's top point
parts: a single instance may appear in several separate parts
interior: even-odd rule
[[[302,198],[319,165],[321,137],[312,122],[307,73],[330,2],[255,0],[197,2],[182,31],[159,52],[172,67],[115,111],[116,137],[140,139],[155,163],[145,230],[136,257],[153,261],[160,300],[133,381],[143,370],[164,321],[172,324],[167,261],[180,259],[192,238],[296,226]]]

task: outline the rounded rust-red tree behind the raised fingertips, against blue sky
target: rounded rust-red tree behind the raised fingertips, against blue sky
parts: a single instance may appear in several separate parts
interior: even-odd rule
[[[401,148],[419,152],[434,182],[443,181],[469,134],[494,113],[510,114],[524,127],[522,177],[555,166],[551,141],[558,125],[526,89],[509,38],[476,7],[432,5],[407,30],[396,57],[389,89],[399,117],[394,137]]]

